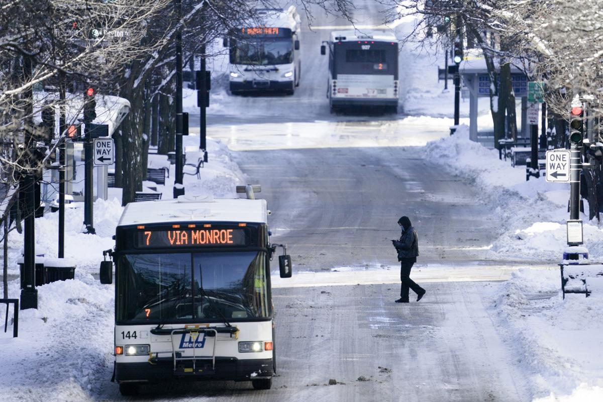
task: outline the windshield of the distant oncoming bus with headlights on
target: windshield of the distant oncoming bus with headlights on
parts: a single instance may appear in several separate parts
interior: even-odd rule
[[[293,62],[291,38],[245,38],[233,42],[233,48],[230,49],[231,64],[266,66]]]

